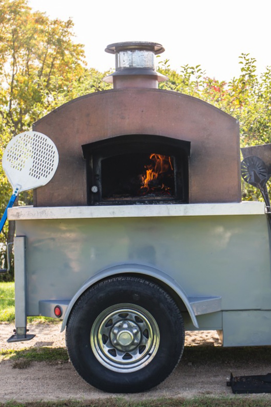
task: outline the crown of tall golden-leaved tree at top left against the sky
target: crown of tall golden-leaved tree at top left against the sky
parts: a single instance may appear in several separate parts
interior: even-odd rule
[[[26,0],[0,0],[0,114],[11,133],[29,129],[52,94],[84,72],[83,46],[72,41],[72,20],[31,12]]]

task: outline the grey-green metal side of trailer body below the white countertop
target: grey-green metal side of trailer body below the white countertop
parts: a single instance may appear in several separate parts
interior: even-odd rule
[[[202,205],[205,211],[206,205]],[[16,208],[12,211],[15,217]],[[230,339],[236,330],[230,323],[231,316],[238,319],[236,315],[246,315],[240,312],[256,310],[269,315],[271,310],[269,228],[264,213],[83,219],[21,216],[16,230],[17,235],[27,239],[27,315],[41,313],[44,306],[39,309],[39,301],[68,304],[84,284],[89,287],[105,276],[122,272],[148,274],[148,268],[154,270],[149,272],[150,277],[156,275],[156,270],[158,280],[161,273],[176,282],[176,287],[182,287],[194,315],[200,304],[192,305],[194,297],[205,299],[205,303],[206,298],[221,298],[221,308],[217,305],[213,309],[217,312],[212,313],[207,309],[207,315],[201,315],[198,323],[202,329],[222,328],[227,346],[246,344],[251,326],[245,318],[244,335],[237,335],[235,342]],[[103,274],[106,269],[109,271]],[[93,282],[88,284],[91,279]],[[212,314],[219,317],[214,319]],[[195,329],[189,319],[186,326]],[[269,335],[267,326],[260,343],[266,342],[264,338]]]

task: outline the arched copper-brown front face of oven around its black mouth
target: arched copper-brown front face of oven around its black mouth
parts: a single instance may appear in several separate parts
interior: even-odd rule
[[[197,98],[159,89],[120,89],[77,98],[33,125],[59,151],[50,184],[35,190],[35,206],[87,205],[82,144],[150,134],[191,142],[189,203],[240,202],[238,122]]]

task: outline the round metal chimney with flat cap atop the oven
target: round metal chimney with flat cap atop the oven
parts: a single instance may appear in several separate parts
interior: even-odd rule
[[[109,44],[106,52],[115,54],[116,70],[103,80],[113,83],[115,89],[121,88],[158,88],[158,82],[167,77],[156,72],[155,55],[165,51],[155,42],[116,42]]]

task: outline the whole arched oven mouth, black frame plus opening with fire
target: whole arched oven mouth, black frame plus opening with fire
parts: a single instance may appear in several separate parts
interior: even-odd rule
[[[82,149],[89,205],[188,202],[189,142],[119,136]]]

